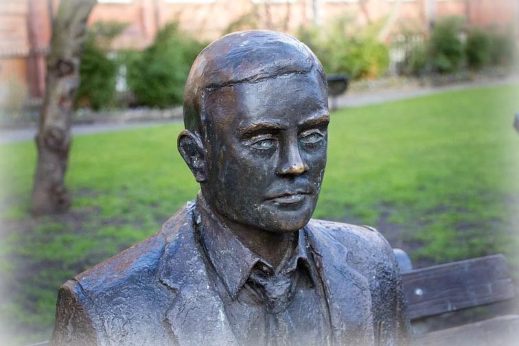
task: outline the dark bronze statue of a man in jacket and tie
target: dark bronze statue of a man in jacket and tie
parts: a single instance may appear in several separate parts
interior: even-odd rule
[[[310,220],[329,121],[323,67],[297,39],[253,30],[211,43],[178,136],[196,200],[63,285],[51,345],[406,343],[387,241]]]

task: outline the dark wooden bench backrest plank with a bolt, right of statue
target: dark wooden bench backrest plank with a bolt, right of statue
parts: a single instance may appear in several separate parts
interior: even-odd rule
[[[503,255],[411,270],[402,275],[402,285],[411,319],[495,303],[515,295]]]

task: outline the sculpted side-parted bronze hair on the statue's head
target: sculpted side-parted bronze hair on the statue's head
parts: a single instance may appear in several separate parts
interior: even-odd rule
[[[189,71],[184,89],[185,128],[203,135],[207,93],[290,73],[317,73],[327,89],[321,62],[297,38],[269,30],[234,32],[220,38],[198,54]]]

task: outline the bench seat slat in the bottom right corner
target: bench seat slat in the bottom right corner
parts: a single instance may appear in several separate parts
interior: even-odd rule
[[[511,346],[519,341],[519,315],[505,315],[481,322],[430,332],[417,338],[417,346]]]

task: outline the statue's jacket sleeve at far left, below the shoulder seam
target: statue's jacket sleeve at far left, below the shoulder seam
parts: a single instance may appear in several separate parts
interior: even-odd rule
[[[80,284],[69,280],[58,291],[56,322],[50,346],[97,346],[100,340],[100,320],[93,314],[93,303]]]

